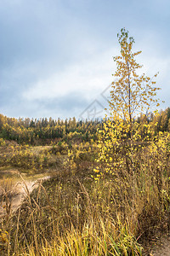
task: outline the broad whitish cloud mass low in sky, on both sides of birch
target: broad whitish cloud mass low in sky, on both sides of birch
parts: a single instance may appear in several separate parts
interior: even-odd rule
[[[13,90],[8,90],[10,86],[6,88],[6,94],[3,91],[1,101],[3,113],[14,117],[52,116],[65,119],[76,116],[78,118],[95,99],[101,102],[100,93],[114,79],[111,76],[111,73],[116,71],[113,55],[119,55],[118,48],[98,52],[89,59],[84,58],[83,61],[74,62],[57,73],[45,73],[45,68],[43,70],[37,64],[23,65],[23,67],[19,65],[9,69],[8,84],[14,83],[14,85]],[[144,48],[137,61],[144,64],[142,72],[150,77],[160,71],[156,81],[157,86],[162,90],[159,91],[158,96],[167,102],[162,108],[168,107],[170,96],[169,84],[167,84],[170,64],[168,55],[167,58],[161,55],[153,56]],[[36,79],[35,75],[37,75]],[[26,84],[23,83],[24,79]],[[16,83],[17,80],[20,84]],[[8,104],[5,104],[7,102]],[[105,102],[101,103],[105,104]]]

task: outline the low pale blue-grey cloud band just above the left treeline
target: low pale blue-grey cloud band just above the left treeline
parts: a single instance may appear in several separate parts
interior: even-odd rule
[[[17,101],[12,98],[8,105],[4,105],[3,114],[15,118],[43,118],[53,117],[54,119],[66,119],[69,117],[79,117],[80,113],[87,108],[89,102],[81,92],[65,94],[62,97],[53,99],[43,99],[29,102],[27,100]],[[19,114],[20,113],[20,114]]]

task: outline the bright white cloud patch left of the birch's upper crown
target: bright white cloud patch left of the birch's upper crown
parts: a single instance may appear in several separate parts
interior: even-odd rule
[[[90,59],[74,63],[50,75],[48,79],[37,80],[23,92],[23,98],[28,101],[45,100],[80,92],[86,98],[93,99],[111,84],[111,73],[115,67],[111,56],[115,51],[113,48],[108,49]]]

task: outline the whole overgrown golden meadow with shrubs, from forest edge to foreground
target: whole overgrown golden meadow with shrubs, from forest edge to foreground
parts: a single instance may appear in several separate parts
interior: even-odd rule
[[[99,155],[98,127],[102,126],[97,121],[82,124],[88,127],[85,133],[80,132],[80,124],[75,120],[71,121],[71,131],[63,122],[60,124],[62,130],[67,128],[64,136],[49,139],[46,133],[47,137],[34,136],[30,142],[27,136],[21,141],[19,133],[13,139],[11,133],[7,137],[4,123],[0,139],[1,254],[148,253],[156,239],[168,234],[170,229],[168,114],[169,109],[145,121],[158,122],[153,125],[157,135],[154,140],[146,140],[143,147],[140,142],[136,145],[134,172],[122,165],[114,174],[102,172],[102,175],[96,172],[105,169],[105,166],[101,168],[105,163],[96,160]],[[10,124],[11,119],[3,119]],[[30,132],[29,127],[20,128],[20,120],[15,122],[18,131],[26,134],[27,129]],[[144,122],[142,125],[140,132],[144,137]],[[10,131],[16,130],[14,122],[8,126]],[[47,127],[51,131],[56,128],[47,124],[42,131]],[[36,127],[31,129],[36,134]],[[4,171],[8,170],[21,174],[20,179],[47,173],[50,178],[38,183],[31,193],[26,189],[25,200],[12,211],[19,191],[14,190],[11,175],[4,177]]]

